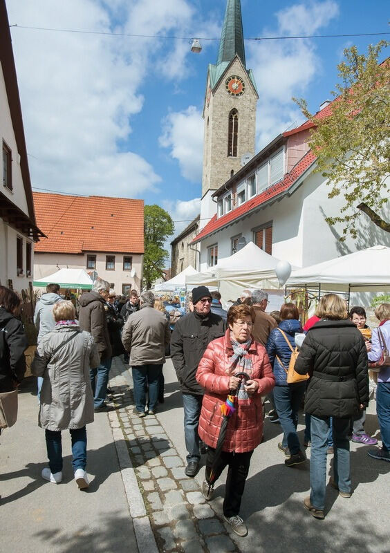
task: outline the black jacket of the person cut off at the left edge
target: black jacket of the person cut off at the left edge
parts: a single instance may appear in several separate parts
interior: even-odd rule
[[[26,373],[28,341],[21,321],[0,308],[0,393],[12,392]]]

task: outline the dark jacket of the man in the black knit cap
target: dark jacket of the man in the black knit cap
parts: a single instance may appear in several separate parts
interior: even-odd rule
[[[195,377],[198,364],[210,341],[224,335],[225,322],[212,312],[202,317],[194,310],[178,319],[171,337],[171,359],[182,392],[203,395]]]

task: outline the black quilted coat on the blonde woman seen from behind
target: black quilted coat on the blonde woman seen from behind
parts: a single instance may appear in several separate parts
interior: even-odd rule
[[[318,321],[308,330],[295,371],[310,374],[305,412],[351,418],[369,404],[366,346],[352,321]]]

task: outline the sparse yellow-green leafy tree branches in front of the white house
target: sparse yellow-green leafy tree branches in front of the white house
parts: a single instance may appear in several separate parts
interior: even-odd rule
[[[317,155],[316,171],[328,178],[328,198],[343,197],[340,214],[326,218],[330,225],[344,225],[341,241],[348,234],[356,238],[363,214],[390,232],[380,214],[390,192],[390,61],[378,64],[389,44],[371,45],[367,55],[356,46],[344,50],[345,60],[337,66],[342,84],[332,93],[329,115],[312,115],[305,100],[293,99],[315,125],[309,144]]]

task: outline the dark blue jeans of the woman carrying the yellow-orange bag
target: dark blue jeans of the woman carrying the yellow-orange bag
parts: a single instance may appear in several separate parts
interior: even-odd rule
[[[291,455],[296,455],[300,449],[297,435],[298,411],[305,395],[306,382],[288,384],[288,386],[275,386],[274,401],[281,429],[284,432],[283,447],[290,449]]]

